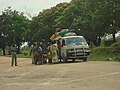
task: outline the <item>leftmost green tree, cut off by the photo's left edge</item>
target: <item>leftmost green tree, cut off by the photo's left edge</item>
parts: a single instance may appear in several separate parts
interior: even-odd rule
[[[0,15],[0,48],[3,50],[5,55],[5,47],[7,46],[8,36],[11,30],[12,17],[10,7],[2,12]]]

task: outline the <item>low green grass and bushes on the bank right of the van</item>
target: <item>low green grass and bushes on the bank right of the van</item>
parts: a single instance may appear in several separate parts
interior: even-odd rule
[[[100,46],[93,48],[88,60],[120,61],[120,41],[118,40],[109,47]]]

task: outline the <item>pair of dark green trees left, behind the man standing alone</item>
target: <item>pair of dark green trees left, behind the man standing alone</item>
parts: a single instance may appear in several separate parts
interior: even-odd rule
[[[25,31],[28,29],[29,20],[11,7],[5,9],[0,15],[0,48],[3,49],[5,55],[5,47],[16,44],[18,53],[20,53],[20,45],[25,40]]]

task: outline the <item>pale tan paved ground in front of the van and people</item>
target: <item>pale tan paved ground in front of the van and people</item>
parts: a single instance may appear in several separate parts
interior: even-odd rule
[[[120,62],[88,61],[32,65],[0,57],[0,90],[120,90]]]

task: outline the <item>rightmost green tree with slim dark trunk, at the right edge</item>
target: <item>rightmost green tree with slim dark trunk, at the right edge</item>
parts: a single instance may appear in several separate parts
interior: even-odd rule
[[[113,35],[113,41],[116,42],[115,34],[120,31],[120,1],[106,0],[104,9],[107,33]]]

